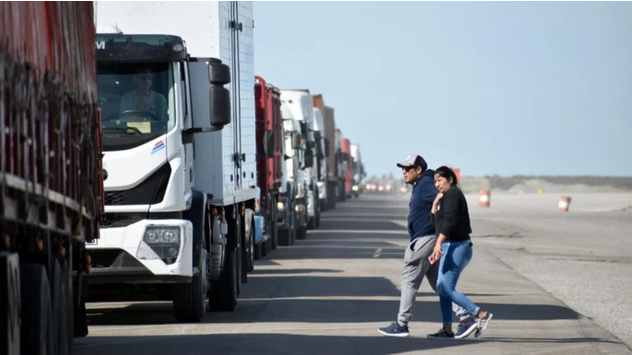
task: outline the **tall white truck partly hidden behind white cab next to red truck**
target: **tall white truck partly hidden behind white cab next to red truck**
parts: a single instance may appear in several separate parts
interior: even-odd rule
[[[298,120],[305,141],[305,186],[307,207],[307,228],[320,225],[318,191],[318,171],[316,170],[316,140],[314,136],[314,102],[309,90],[281,90],[281,102],[285,103]]]

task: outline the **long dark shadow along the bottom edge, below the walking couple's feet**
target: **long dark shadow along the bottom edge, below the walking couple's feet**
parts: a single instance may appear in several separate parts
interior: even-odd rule
[[[419,350],[449,349],[477,342],[519,343],[611,343],[599,338],[521,338],[437,341],[420,337],[393,339],[383,336],[317,336],[290,334],[205,334],[176,336],[96,337],[78,339],[76,355],[144,353],[152,355],[188,354],[288,354],[288,355],[390,355]],[[107,348],[102,347],[107,344]],[[464,351],[464,350],[463,350]]]

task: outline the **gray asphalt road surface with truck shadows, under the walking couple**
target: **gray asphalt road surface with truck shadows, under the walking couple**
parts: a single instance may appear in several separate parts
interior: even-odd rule
[[[441,317],[438,298],[425,282],[411,337],[377,333],[397,314],[407,201],[398,194],[366,194],[325,212],[321,229],[310,231],[307,240],[258,261],[235,312],[178,324],[170,303],[89,304],[90,335],[76,340],[75,354],[386,355],[443,348],[467,354],[632,354],[619,340],[632,324],[625,318],[630,302],[608,298],[630,294],[629,243],[620,245],[626,228],[632,230],[626,222],[632,214],[605,219],[610,212],[521,212],[524,202],[501,200],[494,196],[490,209],[470,201],[475,252],[458,289],[494,313],[481,338],[426,339],[439,329]],[[595,240],[593,229],[607,238]],[[590,251],[617,262],[586,261]],[[574,304],[573,297],[582,300]],[[582,308],[590,305],[609,330]],[[608,318],[612,314],[621,317],[620,325]]]

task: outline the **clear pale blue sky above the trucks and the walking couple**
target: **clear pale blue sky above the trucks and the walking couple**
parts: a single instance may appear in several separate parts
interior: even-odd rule
[[[632,176],[632,3],[255,2],[255,70],[323,94],[369,175]]]

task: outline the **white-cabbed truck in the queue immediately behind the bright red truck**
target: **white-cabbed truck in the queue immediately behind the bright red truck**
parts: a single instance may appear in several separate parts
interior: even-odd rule
[[[294,118],[287,104],[281,102],[281,119],[283,121],[284,151],[283,183],[279,189],[277,217],[279,228],[279,244],[290,246],[296,239],[304,239],[307,235],[307,210],[305,150],[302,142],[300,122]]]

